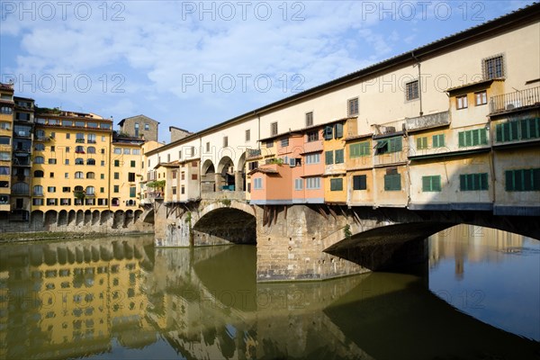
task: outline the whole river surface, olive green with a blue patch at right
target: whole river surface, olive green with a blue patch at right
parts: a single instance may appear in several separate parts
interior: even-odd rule
[[[0,245],[0,359],[539,359],[540,241],[459,226],[429,264],[257,284],[257,249]]]

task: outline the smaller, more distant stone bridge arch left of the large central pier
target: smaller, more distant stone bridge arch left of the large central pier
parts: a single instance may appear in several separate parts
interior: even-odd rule
[[[255,210],[242,202],[223,199],[211,203],[196,216],[186,212],[181,221],[192,221],[193,245],[255,244]]]

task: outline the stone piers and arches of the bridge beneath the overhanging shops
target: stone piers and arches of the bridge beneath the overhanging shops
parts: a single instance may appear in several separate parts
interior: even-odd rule
[[[491,211],[249,205],[241,192],[155,204],[157,247],[257,243],[257,281],[324,280],[427,261],[425,241],[470,224],[540,238],[540,221]]]

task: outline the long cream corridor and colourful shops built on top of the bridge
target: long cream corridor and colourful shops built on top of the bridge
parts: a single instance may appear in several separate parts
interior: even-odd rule
[[[540,215],[539,19],[527,6],[151,150],[144,180],[166,204]]]

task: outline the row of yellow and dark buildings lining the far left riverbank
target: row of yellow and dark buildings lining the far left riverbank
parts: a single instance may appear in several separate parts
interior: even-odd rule
[[[143,148],[157,141],[113,131],[111,119],[94,113],[39,108],[13,87],[0,85],[2,220],[55,211],[69,222],[76,211],[139,209]]]

